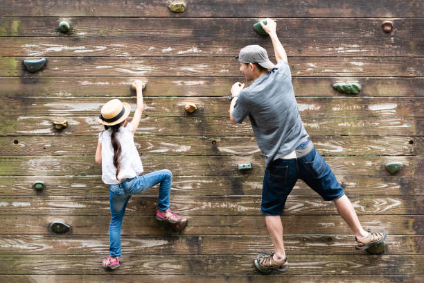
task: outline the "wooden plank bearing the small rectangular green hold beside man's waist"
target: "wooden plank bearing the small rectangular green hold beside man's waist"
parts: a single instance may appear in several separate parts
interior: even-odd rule
[[[263,175],[261,156],[179,156],[143,155],[145,173],[170,169],[174,175]],[[396,175],[423,175],[424,157],[325,157],[338,175],[390,175],[388,162],[402,162]],[[252,169],[238,171],[238,164],[251,163]],[[9,156],[0,157],[0,175],[101,175],[101,166],[93,155],[85,156]]]

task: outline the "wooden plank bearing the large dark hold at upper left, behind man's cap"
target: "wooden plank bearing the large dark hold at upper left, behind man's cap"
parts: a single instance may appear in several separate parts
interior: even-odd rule
[[[34,74],[26,71],[24,59],[1,57],[0,76],[240,76],[240,64],[233,58],[49,57]],[[424,58],[293,57],[288,62],[292,76],[424,75]]]

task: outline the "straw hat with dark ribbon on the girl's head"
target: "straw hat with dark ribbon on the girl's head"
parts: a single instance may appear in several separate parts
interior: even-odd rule
[[[112,99],[103,105],[98,121],[106,126],[114,126],[121,123],[131,112],[130,104]]]

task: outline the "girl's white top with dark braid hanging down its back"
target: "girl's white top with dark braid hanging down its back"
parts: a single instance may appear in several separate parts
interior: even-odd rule
[[[134,178],[143,172],[143,164],[139,152],[134,144],[134,136],[132,135],[132,124],[127,123],[125,127],[119,128],[116,138],[121,144],[121,171],[119,171],[118,179]],[[110,128],[98,134],[98,141],[102,144],[102,180],[105,184],[118,184],[116,180],[116,167],[114,166],[114,148],[110,135]]]

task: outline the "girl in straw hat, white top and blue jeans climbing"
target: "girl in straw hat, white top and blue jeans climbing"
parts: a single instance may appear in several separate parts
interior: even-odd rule
[[[105,131],[98,135],[96,163],[102,164],[102,180],[109,185],[110,226],[109,255],[103,259],[103,268],[114,270],[121,257],[121,226],[125,207],[130,196],[141,194],[160,183],[156,218],[169,223],[176,231],[183,230],[187,219],[169,208],[170,187],[173,174],[160,170],[139,176],[143,172],[140,155],[134,145],[134,132],[139,126],[143,112],[143,83],[132,84],[137,93],[137,107],[129,123],[130,104],[112,99],[103,105],[98,121],[105,125]]]

